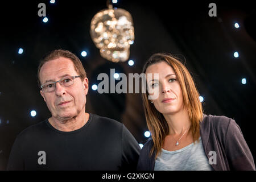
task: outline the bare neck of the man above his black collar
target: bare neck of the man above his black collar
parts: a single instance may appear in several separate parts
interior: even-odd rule
[[[89,113],[82,113],[70,119],[58,119],[51,117],[49,123],[59,131],[75,131],[80,129],[89,120]]]

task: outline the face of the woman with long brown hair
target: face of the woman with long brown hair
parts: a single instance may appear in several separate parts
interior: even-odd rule
[[[150,73],[152,76],[148,75]],[[158,77],[155,73],[158,73]],[[146,69],[146,78],[150,95],[158,94],[158,97],[151,101],[160,113],[175,114],[183,110],[180,83],[170,65],[165,61],[150,65]]]

